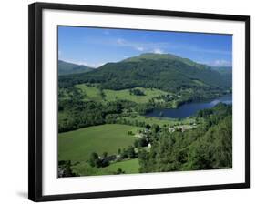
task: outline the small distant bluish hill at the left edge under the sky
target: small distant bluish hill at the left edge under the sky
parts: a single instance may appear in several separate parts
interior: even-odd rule
[[[70,75],[92,71],[93,68],[83,65],[77,65],[62,60],[57,61],[58,75]]]

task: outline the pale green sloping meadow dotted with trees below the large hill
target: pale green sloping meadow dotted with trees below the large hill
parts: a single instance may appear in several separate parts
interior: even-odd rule
[[[158,97],[160,95],[167,95],[168,92],[161,91],[156,88],[144,88],[137,87],[137,89],[141,90],[145,95],[144,96],[136,96],[130,95],[129,89],[123,90],[109,90],[104,89],[102,92],[105,97],[103,98],[100,90],[97,87],[88,87],[86,84],[76,85],[77,88],[82,90],[82,93],[85,96],[86,100],[94,100],[94,101],[115,101],[115,100],[130,100],[136,103],[147,103],[149,99],[152,97]]]

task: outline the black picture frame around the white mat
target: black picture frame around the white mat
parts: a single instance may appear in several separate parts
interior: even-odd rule
[[[200,19],[230,20],[245,22],[245,182],[221,185],[189,186],[161,189],[132,189],[119,191],[104,191],[64,195],[42,194],[42,11],[57,9],[68,11],[91,11],[129,15],[159,15]],[[250,16],[219,15],[167,10],[149,10],[125,7],[108,7],[94,5],[67,5],[34,3],[29,5],[29,141],[28,141],[28,199],[33,201],[49,201],[64,199],[93,199],[105,197],[134,196],[147,194],[175,193],[217,189],[250,188]]]

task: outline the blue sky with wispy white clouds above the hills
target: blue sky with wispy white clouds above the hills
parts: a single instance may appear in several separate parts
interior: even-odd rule
[[[142,53],[170,53],[210,66],[231,66],[232,36],[58,26],[58,58],[92,67]]]

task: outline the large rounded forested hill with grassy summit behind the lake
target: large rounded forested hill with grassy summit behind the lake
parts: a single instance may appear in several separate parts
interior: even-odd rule
[[[89,73],[59,77],[59,87],[81,83],[100,83],[104,89],[116,90],[132,87],[155,87],[167,91],[231,87],[230,78],[210,66],[179,56],[152,53],[107,63]]]

